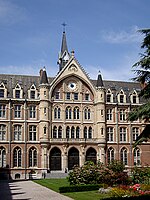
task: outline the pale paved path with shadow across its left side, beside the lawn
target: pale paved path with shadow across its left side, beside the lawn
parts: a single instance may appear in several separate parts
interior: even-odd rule
[[[32,181],[0,182],[0,200],[71,200]]]

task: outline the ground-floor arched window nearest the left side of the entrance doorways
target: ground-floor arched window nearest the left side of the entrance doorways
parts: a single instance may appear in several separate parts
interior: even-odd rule
[[[29,149],[29,167],[37,167],[37,150],[35,147]]]

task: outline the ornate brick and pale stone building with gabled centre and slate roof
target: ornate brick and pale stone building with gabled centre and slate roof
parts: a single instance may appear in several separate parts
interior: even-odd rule
[[[63,32],[59,72],[0,75],[0,168],[13,179],[66,172],[85,161],[150,165],[149,142],[132,148],[145,124],[128,113],[142,102],[138,83],[91,80],[68,52]]]

